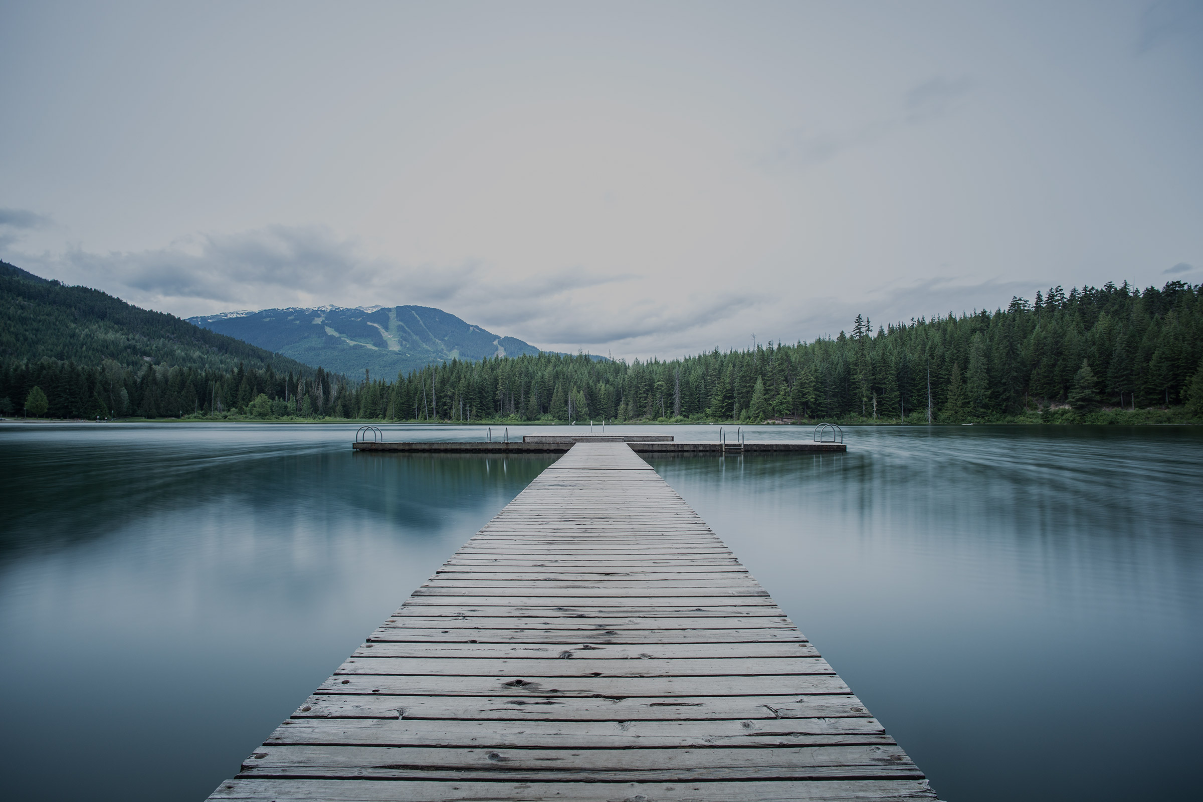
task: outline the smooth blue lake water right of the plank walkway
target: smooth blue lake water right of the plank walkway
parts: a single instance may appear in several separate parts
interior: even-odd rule
[[[1196,798],[1203,432],[660,459],[947,800]]]

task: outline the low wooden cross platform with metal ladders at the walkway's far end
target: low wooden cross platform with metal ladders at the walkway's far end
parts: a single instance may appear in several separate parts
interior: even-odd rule
[[[564,453],[576,442],[626,442],[638,453],[672,455],[723,455],[742,452],[843,452],[842,442],[814,442],[810,440],[769,440],[764,442],[677,442],[669,434],[639,435],[563,435],[528,434],[521,442],[373,442],[357,441],[356,451],[409,451],[409,452],[460,452],[460,453]]]

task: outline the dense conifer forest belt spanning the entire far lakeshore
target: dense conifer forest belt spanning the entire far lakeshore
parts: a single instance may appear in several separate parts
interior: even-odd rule
[[[440,422],[835,420],[878,423],[1203,420],[1201,285],[1053,287],[1007,309],[683,360],[585,355],[451,361],[395,380],[112,360],[10,360],[0,399],[34,386],[49,415]],[[0,400],[0,404],[4,402]]]

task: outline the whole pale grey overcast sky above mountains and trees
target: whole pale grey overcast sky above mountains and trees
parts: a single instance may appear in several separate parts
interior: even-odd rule
[[[1203,280],[1203,2],[0,2],[0,257],[660,357]]]

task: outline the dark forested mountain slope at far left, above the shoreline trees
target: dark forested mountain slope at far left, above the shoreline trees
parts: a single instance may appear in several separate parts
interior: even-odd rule
[[[0,261],[0,360],[59,360],[132,368],[147,363],[229,372],[248,368],[312,375],[279,354],[140,309],[100,290],[67,286]]]

